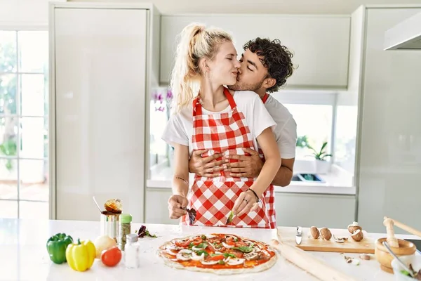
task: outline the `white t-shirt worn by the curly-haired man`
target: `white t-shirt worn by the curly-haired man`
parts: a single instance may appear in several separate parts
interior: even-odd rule
[[[265,107],[276,122],[274,134],[278,143],[281,158],[295,158],[295,145],[297,143],[297,123],[288,109],[279,103],[276,98],[269,95]]]

